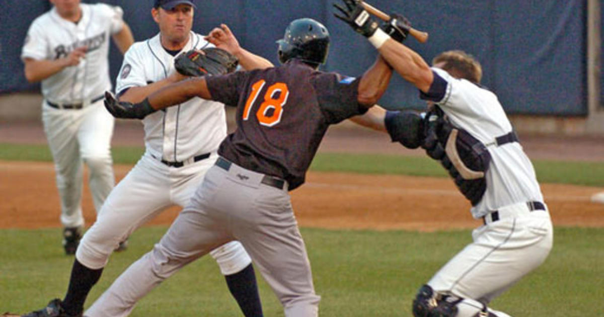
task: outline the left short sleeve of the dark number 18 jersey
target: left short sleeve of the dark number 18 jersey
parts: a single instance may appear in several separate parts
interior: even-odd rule
[[[236,107],[239,103],[237,88],[245,83],[246,74],[247,72],[237,71],[226,75],[205,77],[212,100]]]

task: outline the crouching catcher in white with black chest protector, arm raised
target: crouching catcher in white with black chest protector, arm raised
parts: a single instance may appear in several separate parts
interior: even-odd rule
[[[414,316],[509,316],[487,307],[496,296],[543,263],[553,228],[535,171],[522,150],[503,107],[480,86],[481,67],[461,51],[435,57],[430,68],[402,45],[409,25],[393,19],[393,36],[373,23],[358,0],[342,0],[340,19],[368,37],[384,59],[420,90],[432,106],[419,115],[390,113],[385,126],[403,145],[422,144],[454,176],[471,200],[471,213],[484,225],[467,245],[422,286],[413,301]],[[399,36],[402,33],[403,36]],[[407,135],[407,127],[416,126]],[[416,132],[425,131],[424,135]],[[400,134],[400,135],[399,135]],[[444,215],[446,217],[446,215]]]

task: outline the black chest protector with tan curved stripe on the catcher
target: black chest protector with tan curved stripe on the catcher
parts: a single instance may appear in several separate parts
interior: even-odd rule
[[[424,132],[423,149],[440,161],[463,196],[475,206],[487,188],[484,176],[491,161],[487,147],[466,130],[453,126],[438,106],[426,114]]]

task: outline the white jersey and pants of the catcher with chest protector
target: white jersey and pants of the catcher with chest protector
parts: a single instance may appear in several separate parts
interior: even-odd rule
[[[492,144],[496,137],[512,131],[496,95],[443,69],[432,71],[434,83],[423,98],[438,104],[454,126],[486,144],[492,160],[485,176],[486,193],[471,209],[484,225],[474,229],[474,242],[446,263],[428,285],[439,293],[465,298],[456,304],[456,316],[478,316],[493,298],[543,263],[552,247],[553,228],[522,146],[519,142]],[[488,310],[493,316],[509,316]]]

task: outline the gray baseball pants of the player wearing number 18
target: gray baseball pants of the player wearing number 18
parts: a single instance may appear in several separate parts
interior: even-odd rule
[[[278,189],[263,184],[263,178],[235,164],[228,170],[211,167],[161,241],[121,274],[85,315],[127,316],[140,298],[181,267],[239,240],[281,301],[285,316],[318,316],[320,296],[315,294],[287,184]]]

